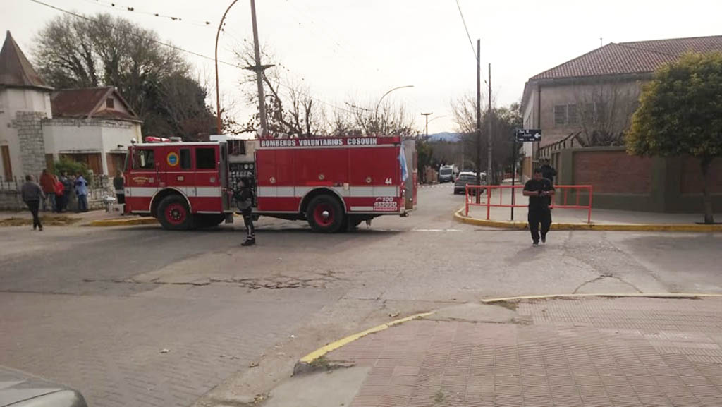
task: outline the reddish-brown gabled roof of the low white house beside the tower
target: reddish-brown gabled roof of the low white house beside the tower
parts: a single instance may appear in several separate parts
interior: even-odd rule
[[[114,92],[125,103],[112,86],[56,90],[50,97],[53,117],[104,117],[138,121],[139,117],[130,110],[127,103],[125,103],[126,108],[129,109],[130,114],[108,109],[95,111]]]

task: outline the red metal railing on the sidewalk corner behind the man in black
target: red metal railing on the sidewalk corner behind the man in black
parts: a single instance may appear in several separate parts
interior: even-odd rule
[[[526,207],[526,199],[523,202],[518,202],[513,197],[516,197],[516,190],[523,189],[523,185],[466,185],[466,216],[469,216],[469,206],[485,206],[487,207],[487,220],[491,215],[492,207]],[[512,203],[505,204],[503,202],[504,190],[511,189],[512,193],[509,194],[508,199],[513,200]],[[555,197],[552,199],[552,205],[549,207],[560,208],[560,209],[586,209],[587,210],[587,223],[591,223],[591,202],[592,202],[592,187],[591,185],[554,185],[556,189]],[[499,203],[492,203],[493,191],[499,191]],[[572,191],[575,197],[574,205],[569,203],[569,192]],[[580,196],[582,192],[586,192],[588,197],[587,205],[580,205]],[[478,195],[478,197],[477,197]],[[482,198],[486,197],[486,202],[482,202]],[[561,205],[554,203],[561,197]],[[477,199],[478,198],[478,199]],[[523,197],[527,198],[527,197]],[[479,202],[477,202],[479,201]]]

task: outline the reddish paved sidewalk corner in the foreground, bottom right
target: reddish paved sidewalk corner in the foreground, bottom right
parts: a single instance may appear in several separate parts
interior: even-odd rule
[[[293,377],[267,406],[720,406],[722,298],[500,305],[367,335],[317,363],[355,367]]]

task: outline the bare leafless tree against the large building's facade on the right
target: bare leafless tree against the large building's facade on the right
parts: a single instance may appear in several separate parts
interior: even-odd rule
[[[575,85],[575,105],[567,106],[567,121],[579,125],[585,147],[624,145],[624,134],[637,110],[636,82],[592,82]]]

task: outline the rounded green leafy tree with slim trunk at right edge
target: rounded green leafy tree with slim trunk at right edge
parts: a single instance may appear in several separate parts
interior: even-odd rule
[[[704,179],[705,223],[714,223],[710,163],[722,155],[722,53],[687,53],[645,85],[626,137],[634,155],[691,155]]]

